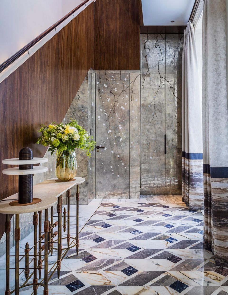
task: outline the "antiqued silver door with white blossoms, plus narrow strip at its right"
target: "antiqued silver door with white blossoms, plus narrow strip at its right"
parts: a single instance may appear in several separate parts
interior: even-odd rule
[[[99,146],[92,159],[94,196],[96,199],[138,199],[140,73],[95,71],[92,75],[95,87],[91,112],[95,131],[92,133]]]

